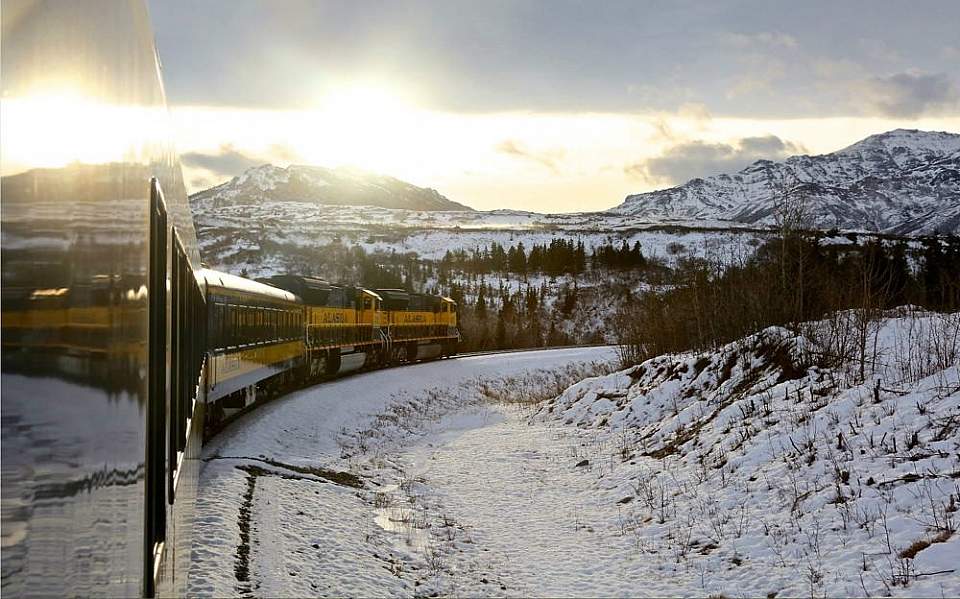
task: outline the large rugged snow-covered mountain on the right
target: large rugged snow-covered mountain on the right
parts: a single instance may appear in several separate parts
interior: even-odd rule
[[[770,225],[785,196],[803,205],[810,226],[960,231],[960,135],[895,129],[831,154],[758,160],[738,173],[630,195],[610,212]]]

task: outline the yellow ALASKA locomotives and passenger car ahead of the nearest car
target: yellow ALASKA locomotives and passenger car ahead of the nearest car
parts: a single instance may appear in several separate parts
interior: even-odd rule
[[[249,280],[203,269],[206,434],[292,387],[344,373],[449,357],[457,304],[284,274]],[[202,325],[201,325],[202,326]]]

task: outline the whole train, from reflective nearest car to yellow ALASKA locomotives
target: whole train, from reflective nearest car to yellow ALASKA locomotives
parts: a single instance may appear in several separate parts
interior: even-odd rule
[[[290,388],[453,355],[457,306],[207,268],[143,1],[0,18],[0,592],[182,596],[204,440]]]

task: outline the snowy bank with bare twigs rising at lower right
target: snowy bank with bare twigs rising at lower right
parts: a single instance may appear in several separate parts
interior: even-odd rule
[[[865,380],[814,365],[831,323],[770,328],[587,379],[540,414],[615,448],[624,466],[588,461],[622,534],[676,572],[668,594],[955,596],[958,324],[872,323]]]

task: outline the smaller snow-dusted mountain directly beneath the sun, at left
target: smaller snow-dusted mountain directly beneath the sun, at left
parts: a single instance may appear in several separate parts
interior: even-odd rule
[[[278,201],[405,210],[473,210],[434,189],[393,177],[355,169],[300,165],[253,167],[226,183],[190,196],[195,210]]]

